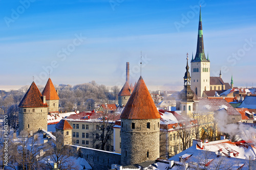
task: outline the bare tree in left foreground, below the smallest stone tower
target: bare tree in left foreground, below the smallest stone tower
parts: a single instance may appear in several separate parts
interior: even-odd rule
[[[76,151],[70,147],[70,144],[68,143],[66,145],[63,145],[63,140],[65,137],[63,137],[63,134],[61,132],[56,132],[56,138],[58,140],[51,140],[49,144],[49,150],[46,151],[44,155],[44,160],[47,164],[47,166],[50,169],[53,169],[51,165],[51,160],[55,163],[57,163],[57,167],[59,169],[78,169],[78,165],[76,165],[71,159],[71,156],[76,155]],[[57,137],[58,136],[58,137]],[[49,160],[50,158],[50,160]]]

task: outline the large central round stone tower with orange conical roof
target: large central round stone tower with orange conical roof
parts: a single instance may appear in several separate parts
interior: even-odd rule
[[[120,117],[121,164],[130,165],[157,159],[160,114],[142,77]]]

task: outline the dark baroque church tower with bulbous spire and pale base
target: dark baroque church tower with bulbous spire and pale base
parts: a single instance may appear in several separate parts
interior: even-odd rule
[[[186,66],[186,72],[184,76],[184,90],[182,91],[181,94],[181,114],[183,116],[191,116],[193,114],[193,98],[194,98],[194,93],[191,90],[191,77],[189,74],[189,66],[188,66],[188,54],[187,54],[187,66]]]

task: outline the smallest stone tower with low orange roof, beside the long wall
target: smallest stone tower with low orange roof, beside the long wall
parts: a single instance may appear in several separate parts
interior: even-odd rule
[[[72,127],[67,120],[61,119],[60,122],[55,126],[56,129],[56,141],[61,142],[62,145],[72,144]],[[58,132],[60,134],[58,134]]]

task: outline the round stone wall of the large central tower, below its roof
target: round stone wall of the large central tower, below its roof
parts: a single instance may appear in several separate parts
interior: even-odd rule
[[[159,121],[160,119],[121,119],[122,165],[159,157]],[[132,123],[135,123],[135,129],[132,129]],[[150,129],[147,128],[147,123],[150,123]]]

